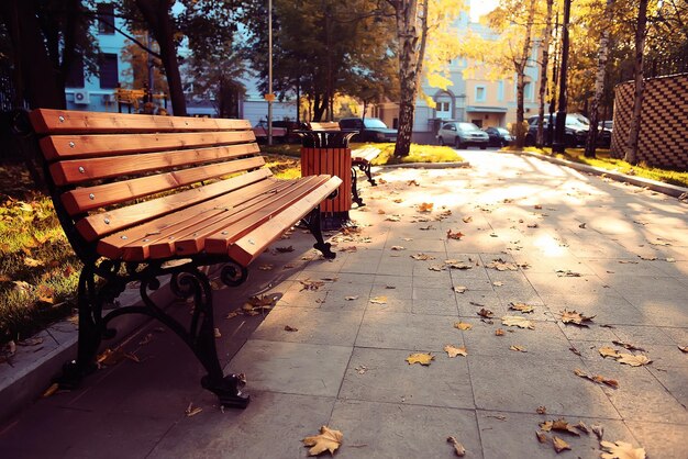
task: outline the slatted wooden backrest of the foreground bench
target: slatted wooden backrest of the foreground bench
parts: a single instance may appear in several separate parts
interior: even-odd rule
[[[271,175],[246,120],[46,109],[30,120],[79,256],[96,256],[108,234]]]

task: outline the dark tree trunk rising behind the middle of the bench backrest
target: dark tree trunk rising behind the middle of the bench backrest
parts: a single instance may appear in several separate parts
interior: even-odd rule
[[[160,60],[167,76],[169,100],[174,114],[185,116],[187,114],[187,101],[184,97],[179,63],[177,61],[177,47],[175,46],[170,19],[171,2],[169,0],[136,0],[136,5],[160,46]]]

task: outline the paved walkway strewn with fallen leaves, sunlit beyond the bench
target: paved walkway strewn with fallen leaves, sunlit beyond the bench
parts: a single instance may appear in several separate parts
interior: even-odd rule
[[[466,457],[547,458],[539,423],[565,417],[651,458],[686,458],[688,205],[535,158],[465,156],[469,169],[379,172],[351,213],[360,233],[334,237],[336,260],[297,231],[276,244],[293,251],[265,254],[245,286],[219,288],[218,343],[226,370],[247,374],[245,411],[221,412],[190,352],[152,324],[124,345],[141,362],[40,400],[0,432],[0,456],[298,458],[301,438],[329,425],[344,434],[340,458],[450,458],[448,436]],[[280,298],[265,320],[224,318],[257,292]],[[566,325],[564,310],[592,322]],[[447,344],[467,356],[448,358]],[[653,362],[622,365],[601,347]],[[412,352],[434,360],[409,365]],[[189,403],[202,411],[187,417]],[[555,435],[572,448],[561,457],[600,455],[592,433]]]

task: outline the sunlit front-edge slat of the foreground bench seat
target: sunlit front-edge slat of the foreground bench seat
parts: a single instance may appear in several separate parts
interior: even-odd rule
[[[258,257],[268,245],[274,243],[284,232],[290,228],[299,220],[303,219],[313,206],[318,205],[330,193],[337,189],[342,183],[339,177],[332,177],[326,182],[318,187],[311,193],[306,195],[298,202],[290,205],[287,212],[281,212],[268,222],[244,235],[234,242],[228,250],[230,257],[242,266],[248,266],[256,257]],[[209,244],[209,242],[211,242]],[[213,253],[214,249],[222,248],[222,244],[217,243],[218,239],[206,239],[206,249]]]

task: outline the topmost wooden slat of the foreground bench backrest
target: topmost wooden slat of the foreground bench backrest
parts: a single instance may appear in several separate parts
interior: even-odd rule
[[[62,116],[62,120],[60,120]],[[127,113],[76,112],[68,110],[37,109],[30,113],[38,134],[75,133],[141,133],[174,131],[249,130],[248,120],[218,117],[154,116]]]

